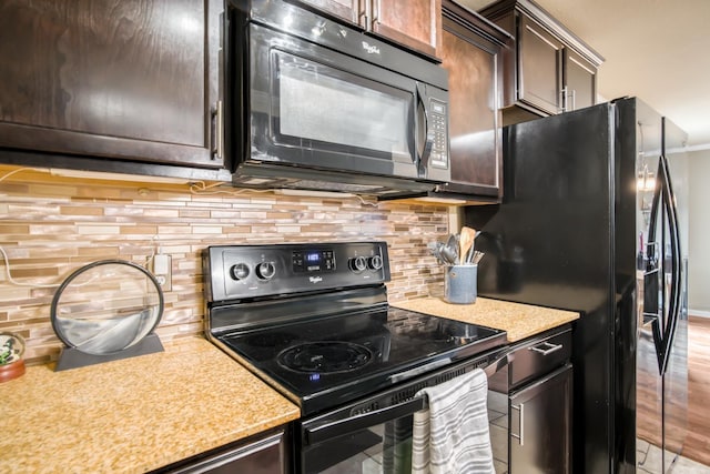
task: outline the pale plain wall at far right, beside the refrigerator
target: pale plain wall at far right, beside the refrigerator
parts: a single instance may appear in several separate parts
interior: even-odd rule
[[[710,316],[710,150],[689,154],[690,314]]]

